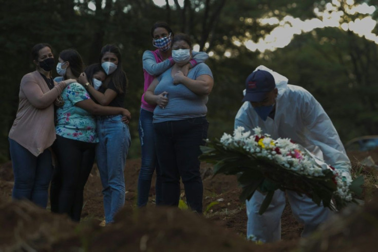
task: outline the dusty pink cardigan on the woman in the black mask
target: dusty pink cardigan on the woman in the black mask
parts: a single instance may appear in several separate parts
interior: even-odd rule
[[[9,138],[34,156],[49,148],[56,138],[53,102],[65,87],[65,82],[59,82],[50,90],[38,71],[26,74],[21,80],[20,102]]]

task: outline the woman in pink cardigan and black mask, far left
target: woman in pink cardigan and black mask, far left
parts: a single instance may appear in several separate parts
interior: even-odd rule
[[[53,171],[49,147],[55,140],[54,101],[75,80],[53,81],[55,63],[49,44],[36,44],[31,53],[36,70],[21,80],[16,119],[8,135],[14,174],[12,198],[46,208]]]

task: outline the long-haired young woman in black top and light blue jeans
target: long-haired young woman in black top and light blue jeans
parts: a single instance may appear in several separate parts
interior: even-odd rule
[[[86,86],[90,95],[101,105],[124,107],[127,78],[122,69],[120,48],[105,45],[101,49],[100,58],[107,77],[99,90],[90,85],[85,73],[80,76],[79,82]],[[131,115],[97,117],[99,143],[96,157],[103,186],[105,224],[113,223],[115,214],[125,204],[124,168],[131,144],[127,125],[130,118]]]

